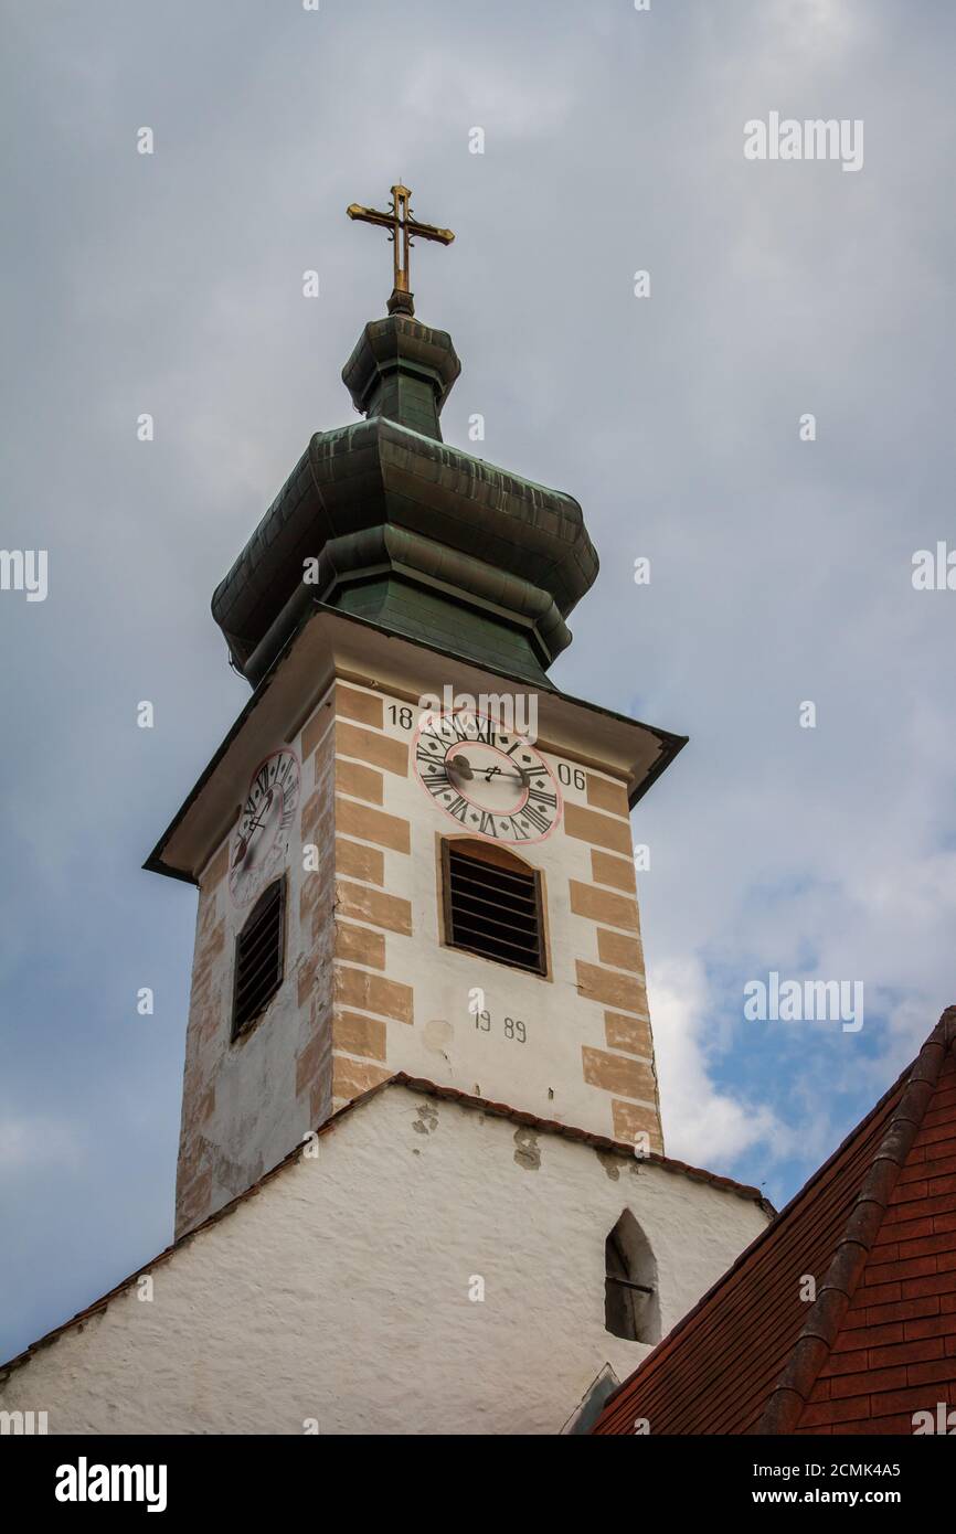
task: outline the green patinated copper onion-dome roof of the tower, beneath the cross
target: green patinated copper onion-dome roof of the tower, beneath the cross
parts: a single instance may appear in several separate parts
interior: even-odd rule
[[[362,331],[342,377],[367,419],[312,437],[213,595],[253,684],[316,597],[539,681],[571,641],[597,575],[582,509],[442,442],[459,371],[445,331],[404,314]]]

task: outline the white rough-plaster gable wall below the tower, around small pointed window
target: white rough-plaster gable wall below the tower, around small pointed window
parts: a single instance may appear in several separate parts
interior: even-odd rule
[[[152,1302],[134,1287],[14,1370],[0,1407],[51,1433],[557,1433],[605,1362],[623,1378],[649,1351],[603,1330],[625,1206],[664,1332],[766,1224],[681,1174],[385,1088],[158,1264]]]

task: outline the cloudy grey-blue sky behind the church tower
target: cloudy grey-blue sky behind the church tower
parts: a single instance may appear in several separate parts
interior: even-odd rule
[[[0,542],[49,594],[0,592],[0,1356],[170,1238],[195,893],[140,864],[247,696],[213,586],[353,419],[390,268],[344,210],[399,178],[457,233],[414,268],[447,439],[480,411],[602,557],[555,680],[691,736],[634,821],[668,1149],[783,1203],[956,1000],[956,591],[911,581],[956,545],[956,11],[2,9]],[[770,112],[861,120],[862,169],[746,160]],[[862,1029],[744,1020],[770,971]]]

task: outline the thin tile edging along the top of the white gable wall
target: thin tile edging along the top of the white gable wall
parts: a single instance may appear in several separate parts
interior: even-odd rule
[[[513,1123],[523,1124],[528,1129],[536,1129],[539,1134],[560,1135],[565,1140],[580,1140],[585,1144],[594,1146],[597,1150],[608,1150],[629,1158],[634,1157],[634,1146],[628,1144],[626,1141],[608,1140],[605,1135],[592,1135],[586,1129],[575,1129],[572,1124],[560,1124],[557,1123],[557,1120],[537,1118],[534,1114],[525,1114],[519,1108],[508,1108],[506,1103],[491,1103],[483,1097],[471,1097],[468,1092],[459,1092],[453,1086],[437,1086],[434,1081],[427,1081],[420,1077],[407,1075],[404,1071],[397,1071],[394,1075],[390,1075],[388,1080],[379,1081],[377,1086],[370,1088],[368,1092],[362,1092],[361,1097],[353,1097],[350,1103],[345,1103],[344,1108],[339,1108],[338,1112],[331,1114],[331,1117],[327,1118],[319,1126],[316,1134],[319,1135],[331,1134],[335,1129],[338,1129],[342,1120],[348,1117],[348,1114],[353,1114],[356,1108],[361,1108],[364,1103],[370,1101],[370,1098],[377,1097],[379,1092],[384,1092],[390,1086],[407,1086],[410,1088],[410,1091],[424,1092],[427,1097],[440,1097],[450,1103],[460,1103],[463,1108],[474,1108],[479,1112],[490,1114],[496,1118],[509,1118],[513,1120]],[[287,1166],[292,1166],[295,1161],[299,1161],[302,1158],[302,1152],[304,1152],[304,1144],[299,1141],[292,1147],[292,1150],[287,1152],[287,1155],[282,1157],[281,1161],[276,1163],[276,1166],[273,1166],[269,1172],[265,1172],[256,1183],[247,1187],[236,1198],[232,1198],[227,1204],[223,1204],[221,1209],[216,1209],[216,1212],[213,1215],[209,1215],[209,1218],[204,1220],[201,1224],[195,1226],[192,1230],[187,1230],[186,1235],[180,1236],[180,1239],[175,1241],[172,1246],[164,1247],[152,1259],[152,1262],[147,1262],[135,1273],[130,1273],[129,1278],[124,1278],[120,1284],[115,1285],[115,1289],[110,1289],[106,1295],[101,1295],[98,1299],[94,1299],[94,1302],[91,1305],[86,1305],[84,1310],[78,1310],[77,1315],[71,1316],[69,1321],[63,1321],[58,1327],[54,1327],[52,1332],[46,1332],[45,1336],[38,1338],[37,1342],[31,1342],[29,1347],[23,1350],[23,1353],[17,1353],[17,1356],[11,1358],[6,1364],[0,1364],[0,1385],[6,1382],[6,1378],[11,1370],[18,1368],[21,1364],[26,1364],[28,1359],[32,1358],[32,1355],[38,1348],[48,1347],[51,1342],[55,1342],[57,1338],[61,1336],[63,1332],[68,1332],[71,1327],[83,1327],[89,1316],[94,1316],[98,1312],[106,1310],[110,1299],[117,1299],[120,1295],[123,1295],[132,1284],[137,1282],[137,1279],[143,1273],[152,1273],[160,1262],[169,1261],[169,1258],[175,1252],[178,1252],[180,1247],[186,1246],[189,1241],[193,1241],[209,1226],[215,1226],[219,1220],[224,1220],[226,1215],[230,1215],[233,1209],[238,1209],[238,1206],[242,1204],[247,1198],[252,1198],[255,1193],[258,1193],[259,1189],[262,1189],[267,1183],[272,1181],[273,1177],[278,1177],[279,1172],[282,1172]],[[735,1183],[733,1178],[718,1177],[717,1172],[706,1172],[701,1167],[687,1166],[686,1161],[675,1161],[671,1157],[658,1155],[657,1152],[644,1155],[643,1160],[651,1161],[654,1166],[663,1167],[666,1172],[677,1172],[683,1177],[689,1177],[695,1183],[709,1183],[712,1187],[721,1187],[727,1193],[737,1193],[738,1198],[752,1200],[755,1204],[760,1204],[760,1207],[766,1210],[766,1213],[769,1215],[775,1213],[773,1206],[763,1197],[758,1187],[747,1187],[746,1183]]]

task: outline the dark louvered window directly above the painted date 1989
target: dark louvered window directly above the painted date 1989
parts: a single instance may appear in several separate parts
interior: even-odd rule
[[[483,959],[546,971],[540,874],[482,842],[443,842],[445,939]]]

